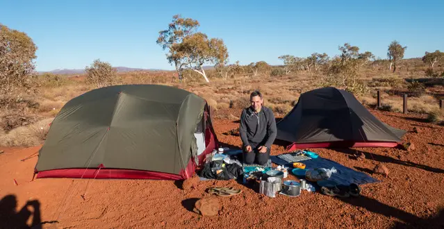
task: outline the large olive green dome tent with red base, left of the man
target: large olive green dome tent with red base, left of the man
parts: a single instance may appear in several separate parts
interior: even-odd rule
[[[52,122],[37,178],[188,178],[217,144],[208,111],[196,94],[164,85],[86,92]]]

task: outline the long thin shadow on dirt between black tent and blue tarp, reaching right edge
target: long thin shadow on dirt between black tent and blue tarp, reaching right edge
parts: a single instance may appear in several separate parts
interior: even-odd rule
[[[395,158],[390,158],[389,156],[386,155],[378,155],[375,153],[368,153],[368,152],[364,152],[364,151],[359,151],[356,149],[348,149],[348,148],[335,148],[332,149],[334,151],[340,152],[340,153],[345,153],[348,155],[354,155],[359,154],[359,153],[363,153],[365,155],[365,159],[366,160],[375,160],[377,162],[386,162],[386,163],[392,163],[392,164],[400,164],[400,165],[404,165],[407,167],[415,167],[418,169],[423,169],[425,171],[431,171],[434,173],[444,173],[444,169],[437,169],[437,168],[433,168],[433,167],[429,167],[427,165],[423,165],[423,164],[416,164],[413,162],[405,162],[402,160],[397,160]]]

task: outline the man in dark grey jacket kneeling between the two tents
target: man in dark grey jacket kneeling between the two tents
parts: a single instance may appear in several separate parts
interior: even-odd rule
[[[273,111],[263,106],[261,92],[249,96],[252,105],[240,115],[240,139],[243,161],[246,164],[265,165],[270,158],[270,149],[277,135]]]

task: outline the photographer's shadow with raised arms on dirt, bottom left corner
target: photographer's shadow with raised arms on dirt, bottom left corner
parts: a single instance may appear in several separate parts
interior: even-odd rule
[[[4,196],[0,200],[0,228],[42,228],[40,217],[40,201],[32,200],[16,212],[17,197],[15,195]],[[32,211],[28,210],[32,207]],[[27,221],[32,217],[31,226]],[[44,222],[47,223],[47,222]]]

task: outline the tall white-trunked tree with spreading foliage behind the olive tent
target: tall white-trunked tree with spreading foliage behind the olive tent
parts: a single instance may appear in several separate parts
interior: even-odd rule
[[[174,15],[168,28],[159,32],[157,44],[168,49],[167,60],[176,67],[179,80],[183,69],[192,69],[209,80],[202,66],[205,63],[225,65],[228,62],[228,50],[222,39],[211,38],[204,33],[197,33],[199,22],[190,18]]]

